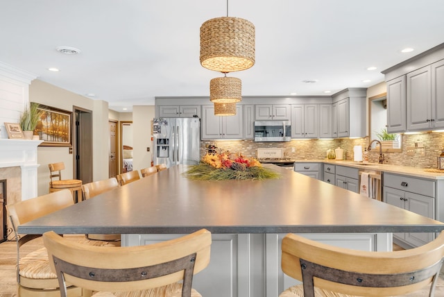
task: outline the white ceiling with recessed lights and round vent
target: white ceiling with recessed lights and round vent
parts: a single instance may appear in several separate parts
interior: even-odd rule
[[[256,64],[229,75],[244,96],[369,87],[444,42],[443,12],[443,0],[231,0],[228,15],[255,24]],[[120,112],[155,96],[209,96],[221,74],[200,66],[199,28],[225,15],[226,0],[0,0],[0,62]]]

